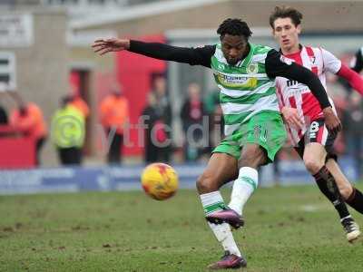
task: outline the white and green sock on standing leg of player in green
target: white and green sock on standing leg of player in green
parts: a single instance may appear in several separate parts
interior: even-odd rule
[[[219,190],[201,194],[201,205],[203,206],[205,216],[208,216],[218,210],[225,209],[226,207]],[[240,249],[234,241],[229,224],[213,224],[208,222],[208,225],[214,233],[214,236],[221,243],[224,251],[229,251],[231,254],[240,256]]]

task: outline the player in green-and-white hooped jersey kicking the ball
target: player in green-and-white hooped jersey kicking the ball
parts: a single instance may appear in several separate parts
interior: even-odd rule
[[[309,69],[287,61],[270,47],[250,44],[250,28],[240,19],[225,20],[217,34],[220,43],[199,48],[116,38],[93,43],[94,52],[101,55],[128,50],[161,60],[202,65],[213,71],[221,90],[226,138],[212,152],[207,168],[197,180],[205,218],[225,250],[221,260],[211,264],[212,269],[247,265],[230,225],[243,225],[242,208],[258,186],[257,169],[273,161],[286,141],[275,78],[284,76],[307,84],[319,100],[329,131],[341,128],[323,85]],[[235,181],[227,206],[219,189],[231,180]]]

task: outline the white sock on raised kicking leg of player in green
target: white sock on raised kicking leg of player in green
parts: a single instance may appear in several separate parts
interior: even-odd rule
[[[257,170],[250,167],[240,168],[239,177],[233,183],[231,202],[228,207],[242,215],[243,207],[257,188],[258,183],[259,173]]]

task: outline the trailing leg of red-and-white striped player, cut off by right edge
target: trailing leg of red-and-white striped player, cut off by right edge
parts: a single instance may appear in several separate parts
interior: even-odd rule
[[[329,159],[325,165],[337,181],[339,192],[346,203],[363,214],[363,194],[361,191],[348,181],[347,177],[340,170],[336,160]]]

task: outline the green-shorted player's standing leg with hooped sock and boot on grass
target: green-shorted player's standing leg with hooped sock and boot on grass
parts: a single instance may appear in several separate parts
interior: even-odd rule
[[[197,189],[200,193],[201,204],[206,218],[213,212],[226,209],[221,197],[221,186],[235,179],[238,174],[238,160],[228,153],[214,152],[208,162],[207,168],[197,181]],[[240,249],[231,233],[231,227],[227,223],[214,224],[208,222],[212,232],[221,243],[226,255],[221,261],[212,264],[211,268],[245,267],[247,265]]]

